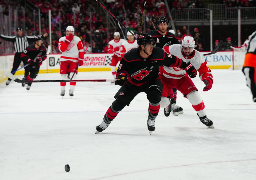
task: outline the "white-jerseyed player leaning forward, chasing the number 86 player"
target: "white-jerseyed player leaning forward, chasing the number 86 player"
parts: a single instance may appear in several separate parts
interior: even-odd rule
[[[213,85],[213,75],[207,66],[204,56],[194,49],[195,41],[191,36],[185,36],[182,44],[173,44],[165,46],[164,51],[167,54],[173,54],[185,62],[193,64],[199,72],[199,77],[205,83],[203,91],[208,91]],[[188,77],[186,71],[181,68],[172,68],[161,66],[159,68],[159,77],[163,84],[163,93],[161,96],[161,108],[166,108],[170,105],[169,92],[172,88],[177,88],[182,92],[192,104],[192,107],[197,112],[200,121],[209,128],[214,128],[213,121],[206,117],[205,105],[193,81]],[[178,114],[177,114],[178,115]]]

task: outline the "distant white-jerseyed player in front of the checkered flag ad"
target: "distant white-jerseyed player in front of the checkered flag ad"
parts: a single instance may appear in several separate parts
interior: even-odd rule
[[[116,74],[117,74],[117,71],[116,71],[117,63],[122,59],[120,55],[120,48],[124,41],[125,41],[124,39],[120,39],[120,33],[115,32],[114,39],[109,42],[109,47],[107,49],[108,53],[114,54],[110,63],[110,68],[111,68],[111,72],[114,79],[116,79]],[[114,82],[111,82],[111,83],[114,84]]]

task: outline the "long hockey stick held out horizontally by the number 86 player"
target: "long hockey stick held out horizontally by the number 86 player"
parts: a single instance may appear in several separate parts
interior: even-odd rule
[[[116,79],[77,79],[77,80],[21,80],[15,77],[10,72],[5,72],[5,75],[16,83],[60,83],[60,82],[114,82]]]

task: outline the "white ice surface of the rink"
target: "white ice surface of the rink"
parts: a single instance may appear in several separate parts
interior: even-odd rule
[[[17,76],[22,79],[22,76]],[[34,83],[29,92],[0,84],[0,179],[256,179],[256,103],[241,71],[213,69],[203,92],[193,79],[215,129],[207,128],[178,92],[184,114],[165,117],[147,130],[148,104],[140,93],[102,133],[95,126],[119,89],[79,82],[73,99],[59,83]],[[58,73],[36,80],[60,79]],[[77,79],[112,79],[111,72],[80,72]],[[70,172],[65,172],[65,164]]]

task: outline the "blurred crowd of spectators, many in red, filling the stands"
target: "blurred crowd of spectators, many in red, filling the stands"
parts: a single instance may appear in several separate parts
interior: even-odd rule
[[[96,11],[96,6],[93,6],[89,0],[30,0],[34,3],[35,7],[41,10],[41,34],[49,34],[48,25],[48,10],[52,14],[52,52],[59,53],[58,39],[65,35],[67,26],[75,27],[75,35],[78,36],[83,44],[87,53],[107,52],[107,39],[113,39],[114,30],[109,30],[107,34],[105,12],[99,14]],[[144,0],[108,0],[103,1],[107,7],[125,26],[132,30],[135,34],[147,32],[157,29],[157,19],[159,17],[167,16],[167,8],[163,0],[146,0],[145,18],[142,26],[142,12]],[[170,10],[182,8],[203,8],[202,0],[167,0]],[[255,0],[221,0],[219,3],[225,3],[227,7],[236,6],[252,6],[255,5]],[[7,3],[0,0],[0,13],[8,15],[8,5],[18,6],[18,18],[22,22],[25,19],[25,32],[27,35],[34,35],[39,33],[38,19],[35,21],[35,29],[33,24],[33,13],[31,9],[25,8],[25,18],[23,17],[22,1],[13,1]],[[101,8],[101,7],[99,7]],[[91,21],[90,21],[91,16]],[[169,25],[171,28],[171,26]],[[118,26],[117,26],[118,28]],[[169,28],[169,29],[170,29]],[[168,30],[169,30],[168,29]],[[122,29],[124,34],[126,30]],[[118,29],[118,31],[120,31]],[[195,39],[195,49],[203,51],[203,37],[198,28],[194,28],[192,32],[188,32],[187,27],[184,26],[182,30],[176,32],[179,42],[185,35],[191,35]],[[122,35],[121,35],[121,38]],[[49,43],[49,37],[45,42],[45,46]]]

